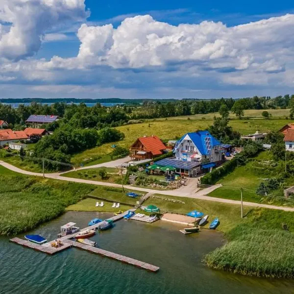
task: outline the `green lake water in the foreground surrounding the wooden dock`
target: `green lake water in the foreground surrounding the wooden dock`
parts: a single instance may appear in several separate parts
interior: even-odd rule
[[[110,214],[68,212],[30,233],[55,239],[68,221],[85,227]],[[201,260],[224,244],[210,230],[183,235],[177,224],[118,221],[91,240],[98,247],[160,267],[153,273],[99,255],[70,248],[48,256],[0,238],[0,293],[5,294],[277,294],[294,293],[293,280],[245,277],[207,268]],[[23,237],[20,235],[19,237]]]

